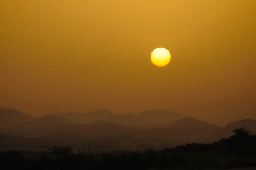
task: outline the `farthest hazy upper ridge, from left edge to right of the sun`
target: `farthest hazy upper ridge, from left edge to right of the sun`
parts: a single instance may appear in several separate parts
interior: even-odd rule
[[[55,116],[55,117],[49,118],[49,116]],[[187,117],[179,113],[173,113],[173,112],[161,111],[161,110],[155,110],[150,112],[146,111],[138,115],[134,115],[132,113],[121,115],[121,114],[115,114],[108,110],[96,110],[88,113],[76,113],[76,112],[50,113],[42,117],[32,117],[27,114],[21,113],[15,109],[2,108],[0,109],[0,121],[4,120],[4,123],[1,124],[2,127],[1,126],[0,127],[5,129],[11,128],[12,131],[17,129],[23,131],[23,130],[26,130],[26,128],[31,129],[33,128],[33,126],[34,128],[39,128],[40,127],[39,124],[41,124],[41,126],[44,126],[44,125],[55,126],[59,124],[90,124],[95,121],[101,120],[101,121],[106,121],[108,123],[125,125],[125,126],[142,125],[142,126],[148,126],[148,128],[150,128],[150,125],[152,123],[145,120],[145,117],[147,116],[149,117],[148,118],[149,120],[151,120],[152,118],[153,120],[158,120],[158,123],[157,123],[158,125],[162,124],[162,122],[174,122],[179,118]],[[64,118],[64,119],[61,119],[61,118]],[[2,132],[4,132],[5,129],[3,129]]]

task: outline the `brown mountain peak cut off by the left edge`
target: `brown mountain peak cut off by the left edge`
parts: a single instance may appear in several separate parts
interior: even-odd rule
[[[34,119],[34,117],[15,109],[0,109],[0,128],[10,128],[11,126],[32,121]]]

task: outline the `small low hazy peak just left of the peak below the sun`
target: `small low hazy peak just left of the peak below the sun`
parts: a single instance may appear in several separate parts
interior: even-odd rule
[[[116,122],[117,124],[125,126],[137,126],[137,125],[150,125],[149,122],[141,117],[138,117],[132,113],[128,114],[116,114],[108,119],[108,121]]]

